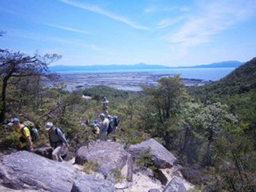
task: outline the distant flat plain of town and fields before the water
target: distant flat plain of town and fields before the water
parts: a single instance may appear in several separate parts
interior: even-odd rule
[[[145,72],[131,73],[110,73],[110,74],[61,74],[60,83],[65,89],[73,90],[92,88],[105,85],[118,90],[139,92],[141,86],[156,86],[157,80],[161,77],[172,77],[172,74],[150,74]],[[201,79],[183,79],[186,86],[202,86],[212,81]]]

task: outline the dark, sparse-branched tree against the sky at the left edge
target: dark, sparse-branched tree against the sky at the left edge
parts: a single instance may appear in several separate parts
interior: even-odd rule
[[[47,65],[59,60],[61,56],[57,54],[46,54],[40,56],[28,56],[21,52],[1,50],[0,51],[0,79],[2,81],[0,123],[6,116],[6,90],[8,83],[15,80],[19,83],[24,77],[42,76],[47,72]]]

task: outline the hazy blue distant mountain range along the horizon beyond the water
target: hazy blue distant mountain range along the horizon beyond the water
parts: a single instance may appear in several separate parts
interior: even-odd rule
[[[239,61],[223,61],[220,63],[212,63],[209,65],[195,65],[189,67],[167,67],[164,65],[147,65],[138,63],[135,65],[86,65],[86,66],[65,66],[56,65],[49,67],[51,72],[68,72],[68,71],[85,71],[85,70],[143,70],[143,69],[168,69],[168,68],[223,68],[223,67],[239,67],[243,62]]]

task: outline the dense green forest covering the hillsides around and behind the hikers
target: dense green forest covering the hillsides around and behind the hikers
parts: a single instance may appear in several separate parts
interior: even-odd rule
[[[187,88],[179,76],[159,79],[143,92],[124,92],[106,86],[67,92],[49,88],[58,76],[47,65],[56,54],[28,56],[1,49],[1,130],[3,152],[17,150],[17,139],[6,126],[12,117],[35,122],[40,131],[36,147],[45,145],[44,124],[51,121],[65,130],[75,152],[96,140],[93,122],[108,97],[109,113],[121,123],[116,141],[125,147],[155,138],[178,157],[182,173],[204,191],[253,191],[256,188],[256,59],[221,81]],[[88,95],[92,99],[83,99]],[[112,137],[112,136],[110,136]]]

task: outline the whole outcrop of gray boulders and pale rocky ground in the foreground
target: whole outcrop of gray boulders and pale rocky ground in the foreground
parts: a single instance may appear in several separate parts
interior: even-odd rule
[[[93,141],[61,163],[47,157],[47,147],[36,154],[2,154],[0,191],[183,192],[194,188],[180,173],[176,157],[154,139],[126,150],[113,141]]]

